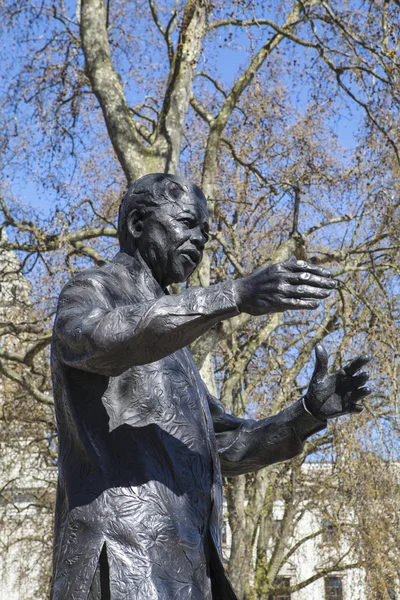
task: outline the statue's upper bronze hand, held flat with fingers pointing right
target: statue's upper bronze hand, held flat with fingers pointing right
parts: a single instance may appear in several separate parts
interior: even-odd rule
[[[241,312],[266,315],[285,310],[314,309],[336,287],[329,271],[304,260],[289,260],[257,269],[234,282]]]

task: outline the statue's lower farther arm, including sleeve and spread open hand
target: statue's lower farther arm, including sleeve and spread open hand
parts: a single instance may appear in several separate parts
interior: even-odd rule
[[[365,386],[368,373],[359,371],[371,357],[362,354],[344,368],[329,373],[328,354],[322,344],[317,344],[315,354],[315,369],[304,399],[274,417],[261,421],[237,419],[210,397],[223,475],[257,471],[293,458],[302,452],[310,435],[326,427],[327,419],[362,412],[362,401],[371,390]]]

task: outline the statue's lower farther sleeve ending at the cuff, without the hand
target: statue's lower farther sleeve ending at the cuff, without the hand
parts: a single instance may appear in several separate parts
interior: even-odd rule
[[[222,474],[226,477],[258,471],[293,458],[303,451],[310,435],[326,427],[326,421],[309,414],[301,400],[260,421],[228,415],[223,405],[212,397],[209,406]]]

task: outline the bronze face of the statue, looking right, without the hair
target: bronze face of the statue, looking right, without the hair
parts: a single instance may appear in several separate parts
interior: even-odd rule
[[[136,239],[142,258],[165,288],[186,281],[200,264],[208,240],[206,199],[199,188],[177,194],[141,221]]]

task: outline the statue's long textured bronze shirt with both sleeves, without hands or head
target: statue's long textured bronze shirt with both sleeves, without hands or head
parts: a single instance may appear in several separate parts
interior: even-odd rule
[[[237,314],[231,283],[166,295],[140,255],[62,291],[52,600],[87,599],[102,549],[112,600],[235,598],[219,555],[221,469],[292,458],[325,426],[300,401],[255,421],[210,396],[187,346]]]

